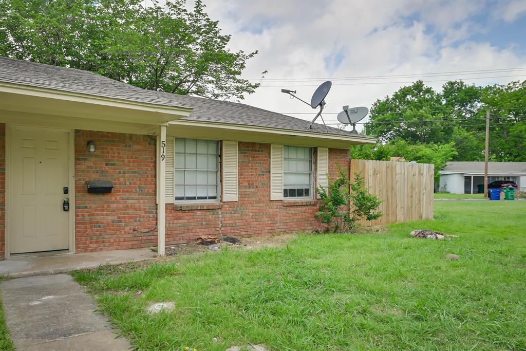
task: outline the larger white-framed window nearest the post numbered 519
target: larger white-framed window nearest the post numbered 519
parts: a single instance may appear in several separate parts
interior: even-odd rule
[[[175,199],[215,200],[219,188],[219,143],[175,139]]]

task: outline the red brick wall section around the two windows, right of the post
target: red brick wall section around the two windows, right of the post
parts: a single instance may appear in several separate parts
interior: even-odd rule
[[[316,160],[316,154],[314,157]],[[167,204],[167,245],[186,243],[202,235],[260,235],[320,227],[314,219],[317,201],[286,206],[291,203],[270,200],[270,144],[240,142],[238,158],[239,201],[198,206]],[[349,162],[348,150],[329,149],[331,177],[337,176],[338,165],[348,170]]]

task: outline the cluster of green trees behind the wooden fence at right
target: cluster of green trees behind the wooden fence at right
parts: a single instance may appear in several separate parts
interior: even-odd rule
[[[526,161],[526,81],[487,87],[451,81],[441,92],[421,81],[402,87],[371,108],[365,128],[379,144],[352,147],[351,152],[355,158],[403,156],[422,162],[419,149],[428,153],[439,150],[435,145],[448,145],[446,161],[483,161],[487,110],[490,160]],[[436,155],[433,161],[437,172],[440,159]]]

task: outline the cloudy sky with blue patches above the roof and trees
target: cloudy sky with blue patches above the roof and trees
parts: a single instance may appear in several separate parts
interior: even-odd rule
[[[317,85],[332,80],[325,120],[337,122],[330,113],[343,105],[370,107],[418,78],[436,89],[459,78],[477,85],[526,79],[526,0],[204,2],[232,35],[232,50],[259,51],[243,77],[268,71],[245,102],[304,119],[315,112],[280,88],[310,101]]]

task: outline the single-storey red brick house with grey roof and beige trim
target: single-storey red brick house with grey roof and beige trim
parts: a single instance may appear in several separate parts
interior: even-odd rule
[[[315,229],[316,187],[375,139],[308,125],[0,57],[0,257]]]

